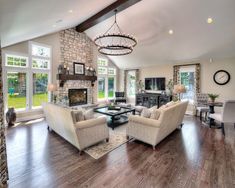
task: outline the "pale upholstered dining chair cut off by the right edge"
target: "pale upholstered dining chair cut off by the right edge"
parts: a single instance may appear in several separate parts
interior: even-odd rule
[[[221,129],[223,135],[225,135],[224,124],[225,123],[233,123],[235,128],[235,100],[227,100],[224,103],[224,107],[222,109],[222,113],[214,113],[210,114],[209,117],[221,122]]]

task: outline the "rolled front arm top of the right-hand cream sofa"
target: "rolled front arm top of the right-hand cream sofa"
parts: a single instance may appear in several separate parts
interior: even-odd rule
[[[151,127],[160,127],[160,122],[158,120],[136,116],[136,115],[130,115],[129,122],[147,125]]]

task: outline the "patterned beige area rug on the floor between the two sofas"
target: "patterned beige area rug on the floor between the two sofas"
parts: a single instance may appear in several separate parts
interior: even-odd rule
[[[126,143],[128,140],[126,139],[125,133],[120,132],[110,132],[109,134],[109,142],[101,142],[94,146],[91,146],[84,151],[93,157],[94,159],[99,159],[110,151],[118,148],[122,144]]]

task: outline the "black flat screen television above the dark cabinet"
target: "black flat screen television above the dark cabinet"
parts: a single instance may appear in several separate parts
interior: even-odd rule
[[[166,79],[164,77],[145,78],[145,90],[159,91],[166,89]]]

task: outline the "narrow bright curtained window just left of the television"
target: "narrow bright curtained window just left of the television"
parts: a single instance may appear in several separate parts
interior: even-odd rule
[[[129,97],[135,96],[136,91],[136,71],[128,71],[127,72],[127,95]]]

